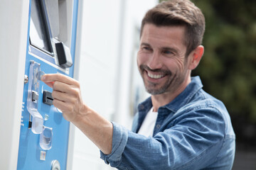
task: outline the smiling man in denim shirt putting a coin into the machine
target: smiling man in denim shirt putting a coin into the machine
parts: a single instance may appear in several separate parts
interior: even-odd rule
[[[203,91],[199,77],[191,78],[203,56],[204,29],[201,10],[189,0],[146,13],[137,64],[151,97],[139,105],[132,131],[83,103],[78,81],[61,74],[42,80],[53,87],[53,105],[117,169],[231,169],[235,134],[228,111]]]

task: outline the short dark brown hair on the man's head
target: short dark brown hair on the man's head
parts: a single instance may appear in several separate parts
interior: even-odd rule
[[[189,0],[163,1],[151,8],[142,20],[141,36],[146,23],[155,26],[186,26],[186,56],[201,45],[206,27],[201,9]]]

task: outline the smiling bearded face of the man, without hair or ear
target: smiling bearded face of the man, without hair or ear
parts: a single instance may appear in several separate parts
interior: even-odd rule
[[[190,76],[185,30],[184,26],[145,24],[137,64],[149,94],[174,93]]]

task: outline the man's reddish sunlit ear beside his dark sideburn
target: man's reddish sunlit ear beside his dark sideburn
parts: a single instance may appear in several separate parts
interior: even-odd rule
[[[191,70],[196,69],[196,67],[198,66],[198,64],[199,64],[199,62],[200,62],[200,60],[201,60],[201,58],[203,57],[203,52],[204,52],[204,47],[203,47],[203,45],[199,45],[198,47],[196,47],[195,50],[193,50],[193,51],[191,52],[190,55],[192,55],[192,56],[191,56],[192,59],[191,59],[191,62],[190,62],[190,64],[189,64],[188,69],[191,69]]]

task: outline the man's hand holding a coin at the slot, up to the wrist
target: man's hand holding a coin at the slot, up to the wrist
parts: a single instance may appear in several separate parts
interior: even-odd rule
[[[84,113],[80,84],[63,74],[45,74],[41,80],[53,88],[53,105],[63,112],[63,117],[73,122]]]

